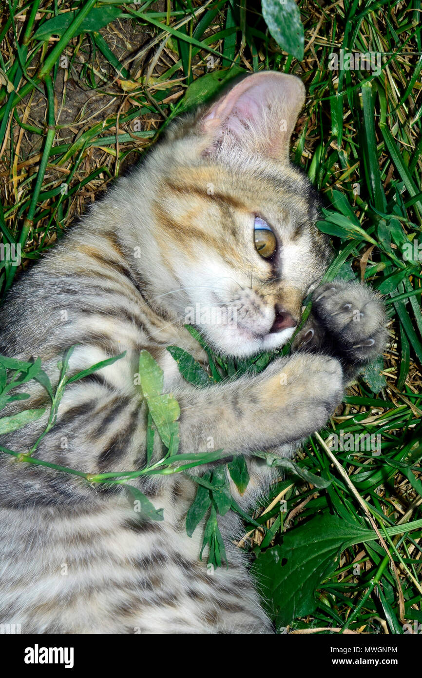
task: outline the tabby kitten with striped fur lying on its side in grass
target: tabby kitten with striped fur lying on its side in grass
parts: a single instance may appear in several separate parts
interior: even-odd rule
[[[56,363],[72,344],[71,374],[127,352],[68,387],[39,458],[90,473],[144,466],[147,413],[135,376],[147,349],[163,367],[165,393],[180,403],[180,452],[207,451],[211,437],[215,449],[247,458],[245,494],[230,481],[247,509],[273,479],[251,452],[291,456],[333,414],[347,379],[381,352],[385,318],[375,294],[341,281],[317,287],[331,256],[314,225],[320,201],[289,162],[304,98],[291,75],[243,79],[175,123],[142,167],[16,283],[1,314],[1,354],[39,356],[57,382]],[[222,355],[280,348],[312,290],[296,351],[257,376],[195,388],[166,351],[175,344],[206,364],[184,327],[197,304],[196,323]],[[201,320],[215,308],[231,319]],[[28,393],[5,414],[47,404],[35,382]],[[46,419],[1,444],[24,452]],[[192,538],[185,527],[192,480],[140,479],[165,516],[140,522],[120,492],[5,454],[0,464],[0,622],[20,623],[22,633],[272,633],[232,542],[240,525],[231,512],[220,520],[228,570],[209,576],[199,560],[201,525]]]

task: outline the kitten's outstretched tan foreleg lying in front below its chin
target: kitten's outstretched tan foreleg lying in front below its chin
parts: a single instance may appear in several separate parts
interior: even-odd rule
[[[212,447],[230,455],[297,445],[324,426],[341,402],[343,388],[337,359],[297,353],[274,360],[257,376],[210,388],[175,389],[180,451]]]

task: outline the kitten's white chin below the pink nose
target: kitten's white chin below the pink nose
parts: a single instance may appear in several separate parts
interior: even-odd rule
[[[280,332],[262,335],[237,327],[236,332],[215,332],[217,336],[208,336],[208,339],[221,355],[248,358],[257,353],[276,351],[291,339],[295,330],[296,327],[287,327]]]

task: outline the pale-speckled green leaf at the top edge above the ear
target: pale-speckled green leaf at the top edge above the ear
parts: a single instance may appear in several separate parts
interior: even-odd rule
[[[262,16],[272,37],[284,52],[303,59],[305,36],[299,7],[294,0],[262,0]]]

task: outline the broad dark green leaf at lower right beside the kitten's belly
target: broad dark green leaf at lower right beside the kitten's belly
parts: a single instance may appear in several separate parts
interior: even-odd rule
[[[325,513],[289,530],[281,545],[259,554],[253,574],[278,628],[314,612],[315,591],[335,570],[341,551],[363,542],[368,534],[372,530]]]

